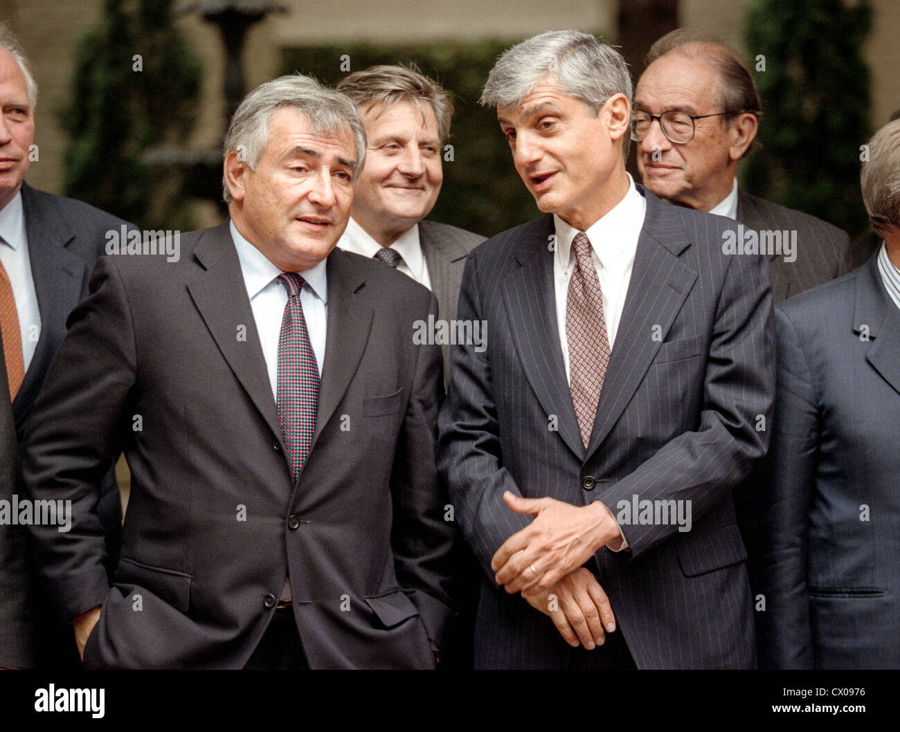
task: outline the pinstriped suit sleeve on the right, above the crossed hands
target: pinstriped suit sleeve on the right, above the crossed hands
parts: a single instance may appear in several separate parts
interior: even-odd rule
[[[728,257],[697,427],[666,442],[652,458],[609,487],[605,502],[611,510],[633,495],[650,501],[683,500],[690,502],[696,523],[730,495],[765,454],[775,399],[772,297],[765,266],[758,256]],[[691,366],[685,363],[683,368]],[[663,404],[662,409],[666,408]],[[680,530],[675,522],[621,528],[632,558]]]

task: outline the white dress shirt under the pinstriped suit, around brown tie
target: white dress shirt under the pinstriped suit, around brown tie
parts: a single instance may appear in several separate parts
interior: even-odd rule
[[[590,239],[590,258],[597,270],[600,290],[603,292],[603,315],[607,322],[609,350],[616,342],[622,308],[628,282],[631,281],[631,270],[635,264],[637,239],[644,227],[644,213],[647,201],[637,192],[635,182],[628,175],[628,191],[622,201],[616,204],[606,216],[599,219],[585,234]],[[560,345],[563,347],[565,378],[569,375],[569,345],[565,333],[565,308],[569,296],[569,280],[575,269],[575,253],[572,251],[572,239],[578,229],[569,226],[563,219],[554,214],[556,227],[556,255],[554,256],[554,295],[556,299],[556,324],[560,334]]]

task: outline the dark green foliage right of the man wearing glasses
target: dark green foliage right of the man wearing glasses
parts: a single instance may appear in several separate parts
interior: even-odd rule
[[[761,149],[748,157],[743,182],[771,201],[830,221],[851,239],[869,228],[860,146],[871,132],[869,69],[861,53],[871,17],[869,0],[755,0],[747,17],[763,114]]]

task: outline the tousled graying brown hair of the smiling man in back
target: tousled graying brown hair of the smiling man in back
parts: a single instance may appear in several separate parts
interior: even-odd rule
[[[411,102],[421,109],[423,103],[429,103],[435,112],[440,141],[450,137],[453,97],[437,82],[419,74],[415,67],[369,67],[345,76],[336,88],[360,107],[392,107],[397,103]]]

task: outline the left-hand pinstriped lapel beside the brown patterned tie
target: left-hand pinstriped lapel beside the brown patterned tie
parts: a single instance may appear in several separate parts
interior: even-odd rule
[[[563,351],[556,326],[554,253],[547,248],[554,233],[553,216],[537,219],[518,241],[519,269],[503,281],[510,330],[528,383],[548,416],[556,415],[563,441],[584,459],[584,445],[565,378]]]

